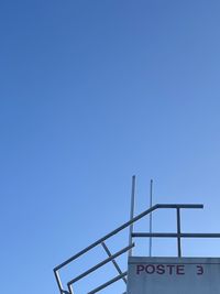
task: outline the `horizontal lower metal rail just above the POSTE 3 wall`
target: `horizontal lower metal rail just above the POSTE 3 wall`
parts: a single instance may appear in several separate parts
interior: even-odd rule
[[[198,232],[198,233],[193,233],[193,232],[182,232],[182,233],[176,233],[176,232],[133,232],[132,233],[133,238],[220,238],[220,233],[206,233],[206,232]]]

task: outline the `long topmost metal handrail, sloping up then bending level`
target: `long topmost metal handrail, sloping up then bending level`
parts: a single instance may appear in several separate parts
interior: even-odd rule
[[[151,214],[152,211],[154,211],[156,209],[177,208],[177,207],[179,207],[179,208],[204,208],[204,205],[200,205],[200,204],[198,204],[198,205],[195,205],[195,204],[183,204],[183,205],[179,205],[179,204],[156,204],[152,208],[143,211],[142,214],[140,214],[136,217],[134,217],[133,219],[124,222],[122,226],[118,227],[113,231],[109,232],[105,237],[102,237],[99,240],[97,240],[96,242],[91,243],[89,247],[82,249],[81,251],[79,251],[78,253],[76,253],[75,255],[73,255],[72,258],[67,259],[66,261],[64,261],[63,263],[61,263],[59,265],[57,265],[56,268],[54,268],[54,271],[58,271],[59,269],[64,268],[65,265],[67,265],[72,261],[76,260],[80,255],[85,254],[86,252],[88,252],[89,250],[91,250],[92,248],[95,248],[96,246],[98,246],[99,243],[103,242],[105,240],[109,239],[110,237],[114,236],[116,233],[120,232],[121,230],[125,229],[131,224],[140,220],[141,218],[145,217],[146,215]]]

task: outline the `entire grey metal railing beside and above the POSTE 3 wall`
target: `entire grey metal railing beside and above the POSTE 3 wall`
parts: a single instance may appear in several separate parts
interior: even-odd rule
[[[109,232],[105,237],[102,237],[99,240],[97,240],[96,242],[91,243],[89,247],[85,248],[84,250],[79,251],[75,255],[70,257],[69,259],[67,259],[66,261],[64,261],[63,263],[61,263],[59,265],[57,265],[54,269],[55,279],[56,279],[61,294],[74,294],[74,290],[73,290],[74,283],[78,282],[79,280],[84,279],[85,276],[89,275],[90,273],[95,272],[96,270],[100,269],[101,266],[106,265],[109,262],[112,262],[112,264],[116,268],[116,270],[118,271],[119,275],[117,275],[112,280],[103,283],[102,285],[96,287],[95,290],[90,291],[88,294],[95,294],[95,293],[106,288],[107,286],[113,284],[114,282],[117,282],[119,280],[123,280],[123,282],[127,284],[128,272],[121,271],[116,259],[128,251],[131,252],[131,249],[134,247],[134,243],[132,241],[133,238],[143,238],[143,237],[176,238],[177,239],[177,252],[178,252],[179,258],[182,257],[182,238],[220,238],[220,233],[183,233],[182,232],[180,209],[191,209],[191,208],[193,209],[204,208],[204,205],[201,205],[201,204],[157,204],[157,205],[154,205],[150,209],[133,217],[132,219],[130,219],[129,221],[123,224],[122,226],[118,227],[113,231]],[[156,209],[176,209],[177,231],[176,232],[133,232],[133,226],[132,225],[134,222],[136,222],[138,220],[142,219],[143,217],[155,211]],[[119,233],[120,231],[127,229],[128,227],[130,227],[130,244],[128,247],[121,249],[117,253],[112,254],[105,241],[108,240],[109,238],[113,237],[114,235]],[[98,247],[98,246],[101,246],[105,249],[108,258],[105,259],[103,261],[101,261],[100,263],[96,264],[95,266],[88,269],[86,272],[84,272],[84,273],[79,274],[78,276],[74,277],[73,280],[70,280],[67,283],[67,290],[64,290],[64,286],[62,284],[61,277],[59,277],[59,271],[63,268],[65,268],[67,264],[72,263],[73,261],[75,261],[76,259],[78,259],[79,257],[84,255],[85,253],[87,253],[88,251],[90,251],[91,249],[94,249],[95,247]]]

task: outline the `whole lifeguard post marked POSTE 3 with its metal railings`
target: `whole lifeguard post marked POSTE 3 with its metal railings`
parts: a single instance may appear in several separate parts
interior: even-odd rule
[[[219,258],[186,258],[182,257],[183,238],[220,238],[220,233],[186,233],[182,232],[180,211],[182,209],[204,208],[201,204],[156,204],[151,206],[142,214],[134,216],[134,187],[135,177],[132,178],[131,216],[130,220],[119,228],[109,232],[96,242],[91,243],[80,252],[70,257],[54,269],[54,274],[61,294],[86,294],[75,291],[75,284],[86,279],[91,273],[100,270],[108,263],[112,263],[118,275],[103,281],[102,284],[91,288],[87,294],[98,292],[105,293],[113,283],[122,281],[124,283],[124,294],[220,294],[220,259]],[[155,210],[175,209],[176,210],[176,231],[175,232],[138,232],[133,230],[133,224],[150,217]],[[129,244],[116,253],[111,253],[107,242],[116,235],[129,229]],[[150,255],[139,257],[132,254],[135,247],[135,238],[176,238],[177,257],[152,257],[151,243]],[[88,270],[64,283],[61,279],[61,271],[66,266],[87,254],[90,250],[101,247],[107,257],[102,261],[94,264]],[[117,258],[128,252],[128,263],[125,271],[121,270]]]

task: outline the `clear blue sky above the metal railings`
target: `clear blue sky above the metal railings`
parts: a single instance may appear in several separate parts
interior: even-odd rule
[[[133,174],[136,213],[154,178],[154,203],[206,205],[184,229],[220,231],[219,15],[219,0],[1,0],[2,293],[58,293],[53,268],[128,219]]]

